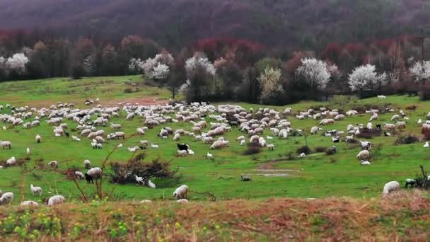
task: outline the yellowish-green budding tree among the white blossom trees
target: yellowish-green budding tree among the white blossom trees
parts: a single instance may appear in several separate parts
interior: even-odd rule
[[[281,69],[266,67],[265,71],[258,78],[261,86],[260,100],[270,102],[270,99],[276,98],[282,91]]]

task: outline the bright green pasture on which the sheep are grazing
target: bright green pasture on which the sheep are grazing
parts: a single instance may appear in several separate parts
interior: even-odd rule
[[[134,88],[132,93],[124,90],[129,86],[124,81],[131,79],[138,83],[139,88]],[[93,79],[83,79],[71,81],[69,79],[48,79],[39,81],[18,81],[0,83],[0,105],[6,104],[20,106],[28,105],[29,108],[49,108],[52,104],[74,103],[75,108],[91,108],[83,103],[87,98],[100,98],[100,104],[104,106],[119,105],[119,103],[139,102],[140,104],[149,105],[150,100],[167,100],[169,93],[166,90],[143,86],[139,76],[121,76],[121,77],[103,77]],[[145,103],[147,102],[147,103]],[[264,105],[237,103],[243,108],[254,108],[257,110]],[[218,103],[214,104],[218,105]],[[330,109],[337,108],[343,110],[343,113],[349,109],[366,110],[367,107],[379,107],[380,115],[373,125],[390,122],[390,117],[398,110],[402,109],[409,117],[407,128],[397,129],[390,137],[373,137],[366,139],[373,143],[371,150],[371,166],[361,166],[356,159],[356,154],[361,150],[358,144],[347,144],[340,142],[337,146],[337,154],[328,156],[325,152],[317,153],[315,148],[318,146],[328,148],[333,145],[331,137],[325,137],[318,132],[316,135],[310,135],[310,128],[317,126],[320,120],[307,118],[298,120],[294,115],[298,111],[306,111],[311,107],[324,106]],[[415,110],[407,110],[407,107],[417,106]],[[121,106],[122,107],[122,106]],[[267,107],[274,108],[282,112],[284,107]],[[430,160],[430,148],[423,148],[423,135],[421,134],[421,125],[417,125],[417,120],[421,118],[426,120],[426,114],[430,111],[430,102],[421,102],[417,97],[408,96],[388,96],[385,100],[378,98],[368,98],[358,100],[356,98],[335,97],[329,102],[301,102],[294,105],[288,105],[293,110],[294,115],[285,116],[291,122],[293,129],[303,129],[304,136],[294,137],[289,134],[288,139],[267,140],[269,144],[274,144],[274,151],[268,151],[262,148],[259,154],[244,155],[243,152],[248,149],[246,146],[240,146],[236,141],[240,135],[245,135],[237,127],[233,127],[231,132],[226,132],[223,137],[230,141],[230,146],[210,150],[210,144],[195,141],[194,138],[182,136],[180,143],[190,144],[191,149],[195,152],[193,156],[177,157],[176,143],[173,136],[168,139],[161,139],[157,136],[161,127],[171,127],[175,129],[185,129],[191,131],[190,122],[172,122],[149,129],[144,136],[134,136],[122,140],[108,140],[103,144],[103,149],[92,149],[91,139],[81,137],[80,130],[74,130],[75,122],[64,119],[68,123],[71,135],[81,137],[81,142],[73,142],[66,137],[54,137],[52,126],[47,125],[45,118],[41,119],[40,127],[23,129],[22,125],[8,127],[6,131],[0,130],[0,140],[7,140],[12,143],[12,149],[0,149],[0,161],[6,161],[15,156],[17,159],[23,159],[27,155],[25,149],[30,148],[31,154],[25,166],[6,167],[0,169],[0,189],[4,192],[13,192],[16,197],[13,203],[18,204],[23,200],[36,200],[30,192],[29,185],[34,184],[42,187],[42,197],[50,197],[54,194],[61,194],[66,200],[79,200],[79,191],[76,189],[73,181],[66,180],[61,171],[67,168],[76,167],[83,173],[83,160],[89,159],[91,165],[101,166],[103,160],[108,156],[110,151],[118,144],[123,143],[123,147],[117,148],[110,156],[108,164],[112,161],[125,162],[133,153],[127,150],[127,147],[136,146],[139,140],[146,139],[149,143],[158,144],[159,149],[146,149],[146,162],[152,159],[160,158],[163,161],[171,161],[171,168],[178,168],[177,178],[153,180],[157,188],[151,189],[147,186],[136,186],[136,184],[117,185],[111,200],[173,200],[172,192],[181,184],[187,184],[190,188],[189,200],[207,200],[208,197],[202,195],[203,192],[211,192],[217,200],[242,199],[262,199],[268,197],[356,197],[368,198],[378,197],[382,192],[383,185],[390,180],[397,180],[404,185],[406,178],[414,178],[419,172],[419,165],[430,170],[428,164]],[[395,113],[385,113],[383,108],[393,108]],[[4,108],[0,114],[10,114],[11,110]],[[109,122],[119,123],[122,125],[121,131],[125,132],[126,137],[136,134],[137,127],[143,127],[144,120],[141,117],[126,121],[126,113],[120,112],[120,117],[112,117]],[[174,117],[174,114],[171,116]],[[33,115],[34,117],[34,115]],[[28,120],[33,120],[30,117]],[[366,126],[370,115],[360,112],[354,117],[345,117],[344,120],[335,122],[335,125],[320,126],[324,130],[337,129],[346,131],[347,125],[362,123]],[[25,121],[28,121],[25,120]],[[207,132],[210,129],[211,120],[209,116],[205,117],[208,127],[203,129]],[[98,127],[104,129],[106,134],[115,132],[111,127]],[[42,143],[36,144],[35,136],[42,136]],[[395,144],[395,140],[400,135],[413,134],[419,137],[420,141],[414,144]],[[262,137],[267,135],[273,136],[268,128],[265,129]],[[306,158],[298,158],[296,150],[308,144],[312,154]],[[214,159],[207,159],[207,152],[214,155]],[[58,161],[59,168],[47,168],[49,161]],[[44,163],[46,168],[33,169],[37,163]],[[109,165],[107,166],[109,168]],[[240,181],[240,174],[247,174],[252,177],[250,182]],[[86,184],[85,180],[79,180],[83,191],[88,195],[95,191],[93,185]],[[110,192],[114,185],[107,179],[103,182],[103,192]],[[23,195],[20,197],[19,195]]]

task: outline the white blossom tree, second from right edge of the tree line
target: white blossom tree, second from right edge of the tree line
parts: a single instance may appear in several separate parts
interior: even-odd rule
[[[357,67],[349,74],[348,84],[351,91],[372,91],[388,83],[387,75],[377,74],[376,67],[371,64]]]

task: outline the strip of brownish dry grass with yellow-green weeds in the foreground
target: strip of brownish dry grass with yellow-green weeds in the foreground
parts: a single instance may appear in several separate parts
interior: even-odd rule
[[[0,210],[1,240],[429,241],[430,201],[419,192],[352,200],[93,201]]]

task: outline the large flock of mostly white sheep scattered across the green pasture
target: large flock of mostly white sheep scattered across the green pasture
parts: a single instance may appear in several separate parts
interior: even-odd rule
[[[378,97],[385,99],[385,97]],[[318,132],[322,132],[324,136],[330,137],[332,143],[339,142],[352,142],[355,137],[364,129],[383,129],[385,136],[390,136],[389,132],[394,132],[395,129],[405,129],[407,120],[409,118],[402,110],[395,110],[387,108],[383,111],[385,113],[395,113],[391,117],[392,123],[383,123],[373,125],[373,122],[377,122],[378,114],[380,110],[371,109],[366,110],[369,115],[368,123],[347,125],[346,130],[326,130],[323,131],[322,127],[335,124],[338,120],[344,120],[348,117],[359,115],[356,110],[348,110],[344,114],[339,113],[338,110],[328,110],[327,108],[318,108],[318,110],[308,109],[306,111],[298,111],[294,115],[291,108],[285,108],[282,112],[270,108],[259,108],[249,110],[240,107],[239,105],[211,105],[208,103],[191,103],[186,105],[185,103],[175,103],[166,105],[139,105],[127,103],[122,107],[102,107],[98,104],[98,99],[95,102],[87,100],[85,105],[95,106],[92,108],[74,108],[73,103],[57,103],[57,105],[51,105],[49,108],[29,108],[25,107],[13,107],[6,105],[3,107],[0,105],[0,122],[4,123],[3,130],[5,132],[8,129],[23,126],[24,129],[37,128],[40,125],[51,125],[52,135],[54,137],[66,137],[71,142],[83,142],[83,140],[90,140],[91,149],[103,149],[103,144],[108,140],[112,139],[126,139],[125,132],[122,132],[122,125],[112,122],[112,118],[120,118],[122,113],[125,113],[125,122],[133,119],[140,119],[143,123],[143,127],[136,127],[134,135],[144,136],[148,129],[154,129],[160,127],[158,137],[151,137],[151,139],[172,139],[174,142],[179,142],[181,137],[187,136],[192,137],[195,142],[202,142],[208,144],[208,149],[225,149],[231,145],[231,142],[223,137],[223,134],[230,132],[232,129],[239,129],[243,132],[243,135],[237,137],[236,142],[240,146],[245,144],[256,144],[260,147],[267,148],[268,151],[273,151],[275,146],[272,144],[272,140],[287,139],[289,136],[301,136],[305,134],[303,129],[293,128],[291,120],[296,117],[297,120],[313,119],[319,120],[318,126],[310,128],[309,134],[315,135]],[[2,112],[8,111],[8,112]],[[10,113],[10,114],[6,114]],[[430,113],[429,113],[430,117]],[[45,120],[45,122],[42,122]],[[74,123],[76,127],[76,134],[71,135],[68,123]],[[189,129],[172,129],[168,127],[169,123],[172,122],[185,122],[189,125]],[[209,122],[209,123],[208,123]],[[44,124],[45,123],[45,124]],[[418,120],[417,124],[422,125],[423,129],[430,129],[430,122],[422,122]],[[105,127],[110,126],[113,132],[105,132]],[[208,131],[204,129],[209,128]],[[266,134],[266,135],[263,135]],[[127,137],[132,134],[127,134]],[[329,140],[327,140],[330,142]],[[42,142],[42,137],[37,134],[35,142]],[[136,146],[127,147],[127,150],[134,152],[138,149],[157,149],[158,144],[156,142],[149,142],[148,140],[140,140]],[[361,147],[361,151],[357,154],[357,159],[361,165],[371,165],[369,160],[371,157],[372,144],[368,141],[358,142]],[[428,143],[424,144],[429,145]],[[13,149],[13,144],[9,141],[0,141],[2,149]],[[122,148],[123,144],[119,144],[117,148]],[[189,144],[178,143],[177,156],[188,156],[194,155],[194,151],[190,149]],[[330,147],[332,151],[336,152],[337,147]],[[205,151],[207,158],[212,159],[214,157],[209,151]],[[30,148],[26,149],[26,154],[30,155]],[[299,158],[305,158],[306,154],[298,154]],[[15,157],[11,157],[6,161],[6,166],[13,166],[16,164]],[[50,161],[47,163],[52,168],[58,167],[57,161]],[[86,160],[83,162],[83,166],[87,169],[86,173],[76,171],[76,178],[85,178],[88,183],[93,183],[93,179],[98,179],[103,175],[101,168],[91,168],[90,161]],[[1,167],[3,168],[3,167]],[[135,175],[136,183],[138,185],[148,185],[150,188],[156,188],[156,185],[151,180]],[[249,178],[249,180],[251,180]],[[409,183],[412,181],[409,180]],[[399,183],[389,182],[383,188],[383,193],[389,193],[400,188]],[[30,185],[30,191],[33,195],[42,194],[42,188]],[[180,186],[173,192],[174,197],[179,202],[185,202],[187,197],[188,187],[186,185]],[[13,200],[13,194],[6,192],[0,197],[0,204],[7,204]],[[149,200],[143,200],[148,202]],[[46,201],[47,204],[59,204],[64,202],[64,197],[56,195],[50,197]],[[37,204],[34,201],[25,201],[23,204]]]

